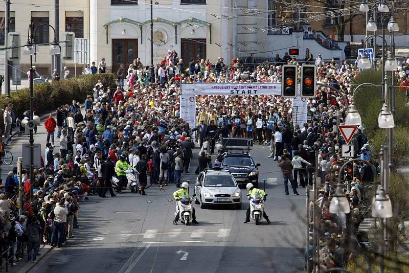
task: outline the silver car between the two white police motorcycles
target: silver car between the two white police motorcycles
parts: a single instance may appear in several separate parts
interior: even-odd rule
[[[241,209],[241,191],[228,170],[205,170],[199,173],[195,194],[195,203],[200,204],[201,209],[220,204],[231,204]]]

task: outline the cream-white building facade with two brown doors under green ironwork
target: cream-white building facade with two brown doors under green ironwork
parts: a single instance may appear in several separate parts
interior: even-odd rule
[[[151,64],[150,0],[90,0],[90,58],[105,58],[108,70],[120,64],[127,67],[139,57]],[[168,50],[176,50],[188,65],[190,59],[214,63],[224,56],[233,40],[228,14],[233,0],[156,0],[153,1],[153,64]],[[223,30],[223,31],[222,31]],[[225,31],[224,31],[225,30]]]

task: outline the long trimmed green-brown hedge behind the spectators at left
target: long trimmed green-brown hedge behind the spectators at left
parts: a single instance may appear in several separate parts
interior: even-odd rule
[[[116,88],[116,75],[112,73],[86,75],[85,86],[83,77],[68,80],[55,81],[51,84],[39,83],[34,85],[33,107],[38,115],[55,111],[62,104],[71,104],[72,100],[80,103],[85,101],[88,94],[92,95],[95,84],[101,80],[104,86]],[[30,91],[28,88],[18,90],[17,94],[11,94],[10,98],[0,96],[0,109],[12,103],[16,115],[21,118],[22,114],[30,108]],[[0,128],[4,130],[4,121],[0,119]]]

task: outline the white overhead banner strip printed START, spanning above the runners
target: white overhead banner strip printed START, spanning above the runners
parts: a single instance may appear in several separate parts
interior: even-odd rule
[[[196,83],[181,84],[182,95],[276,95],[281,96],[281,83]]]

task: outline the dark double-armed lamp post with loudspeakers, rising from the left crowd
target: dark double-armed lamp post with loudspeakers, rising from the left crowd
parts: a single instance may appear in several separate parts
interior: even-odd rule
[[[56,31],[55,29],[49,25],[49,24],[41,24],[38,25],[34,29],[33,21],[31,21],[31,24],[29,26],[29,31],[28,31],[28,40],[27,44],[25,45],[23,49],[23,55],[30,55],[30,121],[27,121],[27,124],[29,123],[39,123],[39,118],[38,117],[33,117],[33,97],[34,97],[34,92],[33,92],[33,77],[34,77],[34,69],[33,69],[33,55],[36,55],[36,42],[35,42],[35,35],[37,33],[37,30],[42,27],[42,26],[49,26],[53,29],[54,31],[54,40],[52,43],[50,43],[50,55],[59,55],[61,53],[60,45],[57,43],[56,39]],[[31,126],[33,127],[33,126]],[[30,181],[31,185],[34,183],[34,135],[33,135],[33,128],[30,128]],[[33,197],[33,188],[30,187],[30,196]]]

